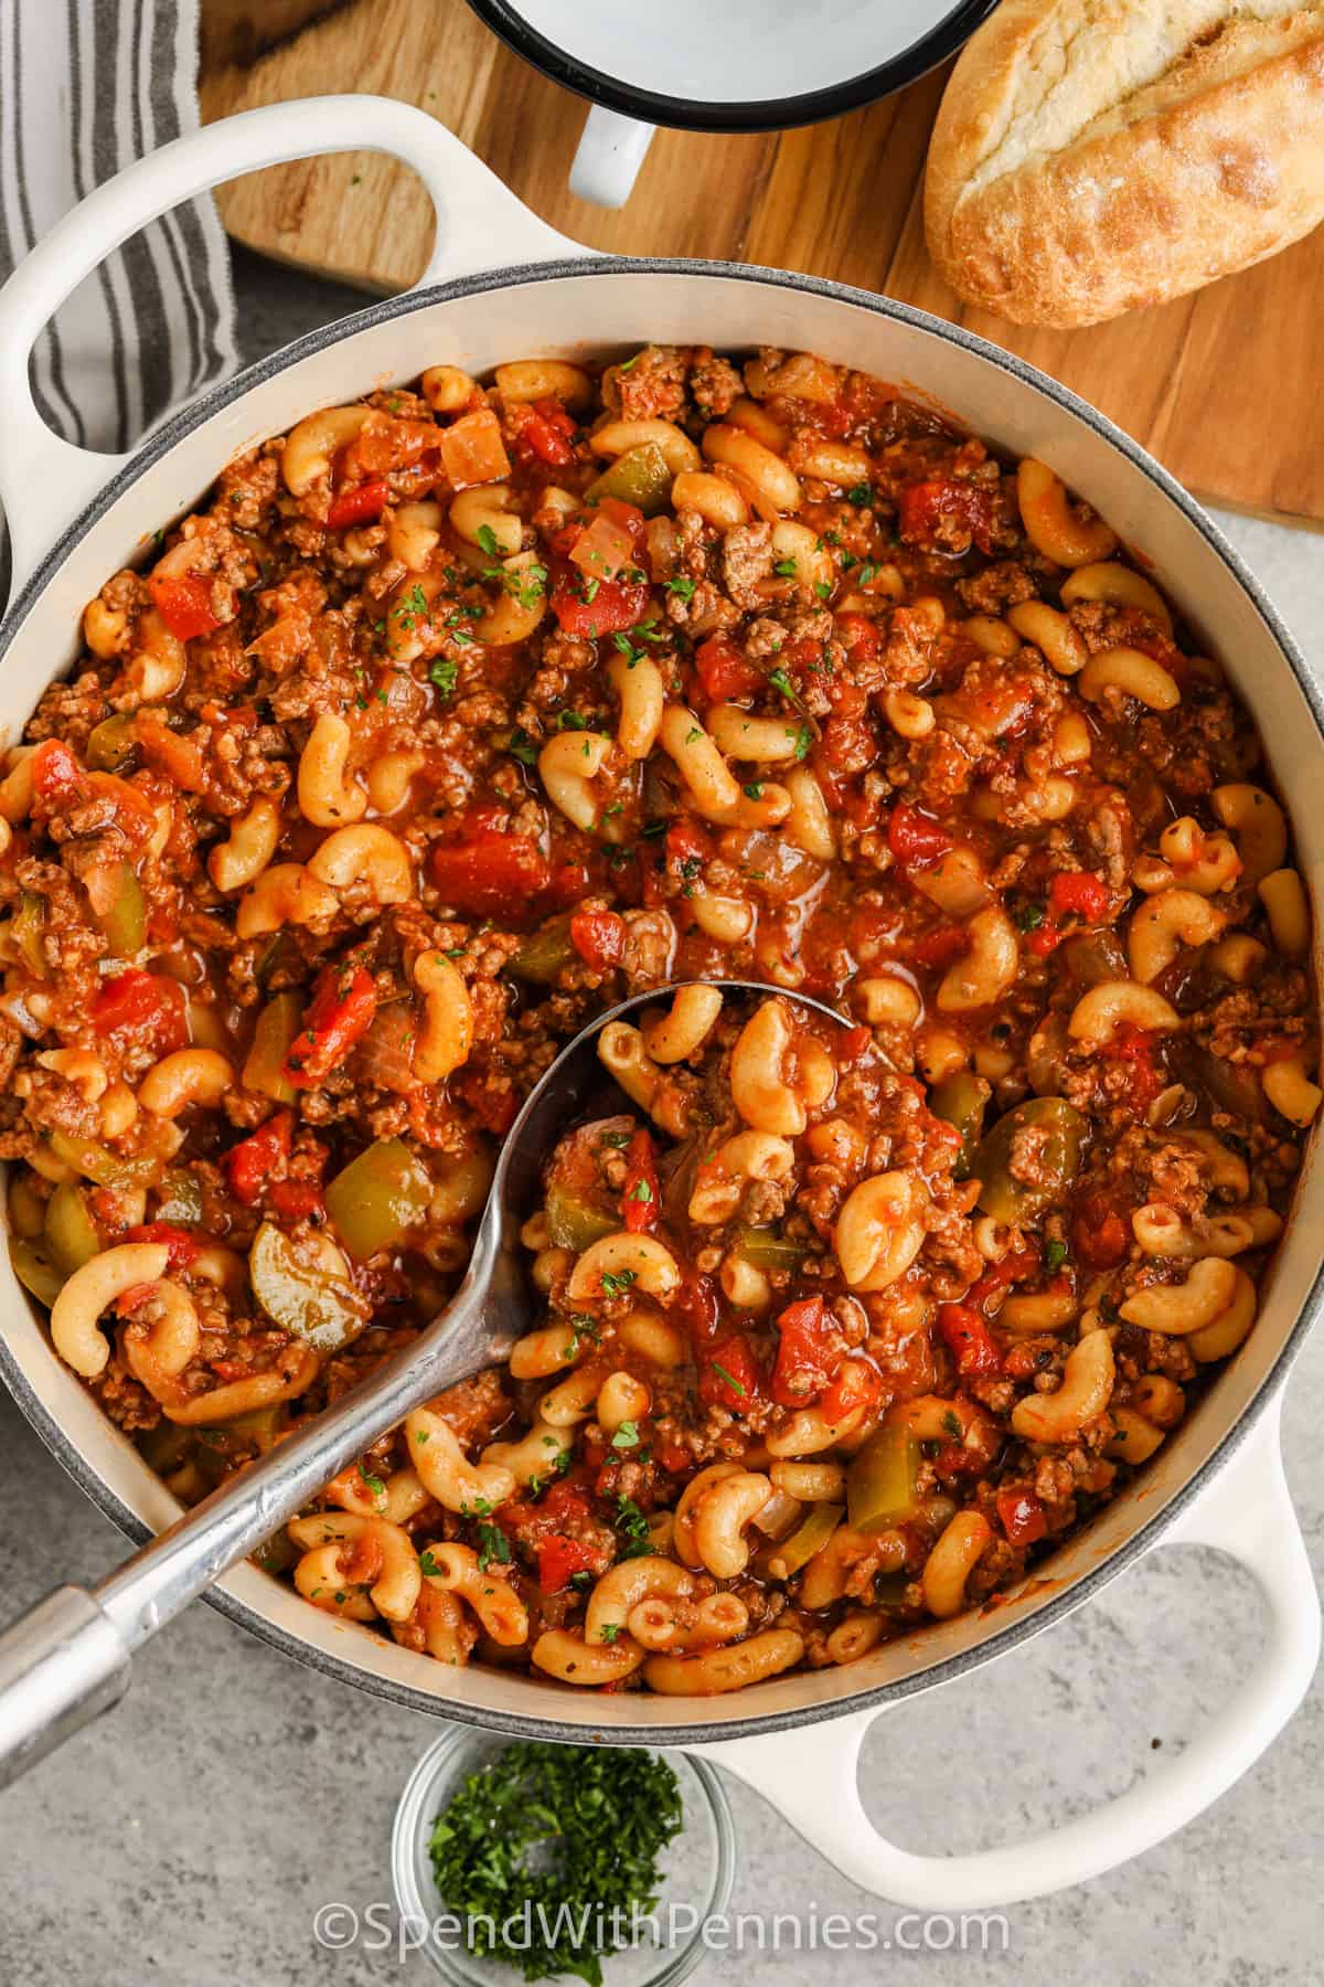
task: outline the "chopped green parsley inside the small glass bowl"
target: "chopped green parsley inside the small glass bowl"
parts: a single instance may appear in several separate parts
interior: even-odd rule
[[[683,1820],[677,1776],[653,1753],[514,1741],[437,1816],[437,1894],[466,1921],[474,1957],[526,1981],[572,1973],[601,1987],[623,1927],[657,1906],[657,1860]]]

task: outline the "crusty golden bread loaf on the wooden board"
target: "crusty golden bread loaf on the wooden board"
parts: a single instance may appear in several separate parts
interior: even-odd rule
[[[1016,324],[1098,324],[1324,221],[1324,0],[1002,0],[929,147],[943,276]]]

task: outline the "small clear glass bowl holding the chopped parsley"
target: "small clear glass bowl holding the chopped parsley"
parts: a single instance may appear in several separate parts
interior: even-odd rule
[[[453,1725],[443,1731],[409,1776],[391,1832],[391,1876],[401,1919],[411,1927],[431,1925],[449,1913],[437,1892],[429,1838],[433,1824],[461,1780],[478,1766],[498,1758],[518,1741],[498,1733],[470,1731]],[[603,1957],[603,1987],[677,1987],[689,1979],[705,1955],[703,1927],[709,1917],[721,1917],[730,1902],[734,1876],[734,1826],[727,1794],[703,1760],[687,1753],[663,1753],[681,1784],[685,1826],[659,1856],[659,1886],[655,1919],[661,1937],[647,1933],[637,1945],[625,1945]],[[669,1917],[669,1908],[683,1913],[681,1927]],[[478,1959],[457,1941],[455,1929],[421,1939],[421,1949],[447,1981],[459,1987],[516,1987],[522,1981],[518,1965]]]

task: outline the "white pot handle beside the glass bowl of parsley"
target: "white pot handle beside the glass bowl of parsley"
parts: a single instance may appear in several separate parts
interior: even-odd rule
[[[877,1711],[832,1733],[705,1747],[865,1890],[927,1911],[1042,1898],[1116,1870],[1185,1828],[1247,1772],[1306,1693],[1320,1653],[1320,1602],[1282,1474],[1280,1401],[1159,1544],[1217,1546],[1255,1576],[1266,1602],[1264,1649],[1211,1727],[1125,1794],[1048,1834],[973,1856],[915,1856],[887,1842],[860,1800],[860,1745]],[[840,1733],[840,1743],[830,1743]]]

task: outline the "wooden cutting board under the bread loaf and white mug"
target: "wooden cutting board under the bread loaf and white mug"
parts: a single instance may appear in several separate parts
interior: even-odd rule
[[[268,46],[272,32],[286,40]],[[929,76],[836,123],[762,137],[661,131],[619,213],[568,191],[586,105],[510,54],[464,0],[202,0],[202,115],[337,89],[417,103],[544,221],[621,254],[764,262],[883,290],[1054,374],[1211,503],[1324,525],[1324,229],[1197,296],[1088,332],[963,306],[923,242]],[[222,189],[230,234],[365,290],[413,282],[433,234],[415,175],[341,153]]]

